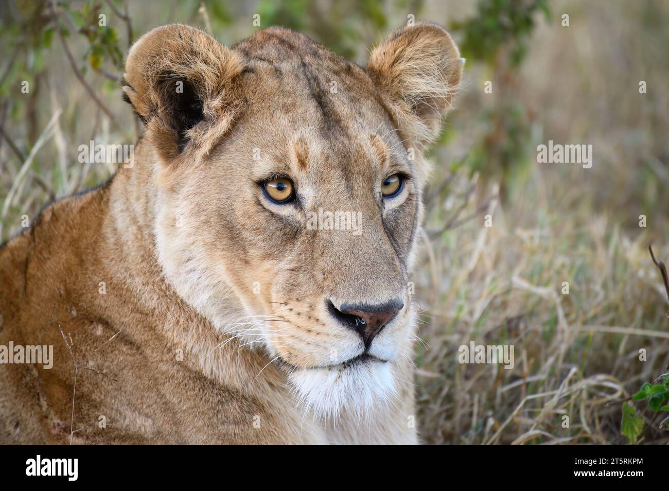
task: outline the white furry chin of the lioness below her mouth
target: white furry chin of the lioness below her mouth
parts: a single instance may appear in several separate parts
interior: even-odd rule
[[[298,404],[318,419],[346,413],[367,419],[397,396],[391,363],[363,361],[337,367],[295,368],[288,381]]]

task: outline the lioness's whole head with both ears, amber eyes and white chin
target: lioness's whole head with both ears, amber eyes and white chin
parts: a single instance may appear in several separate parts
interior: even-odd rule
[[[458,58],[425,24],[367,70],[285,29],[227,49],[171,25],[128,55],[124,92],[158,161],[165,278],[219,332],[266,350],[317,415],[368,411],[400,383],[421,151]]]

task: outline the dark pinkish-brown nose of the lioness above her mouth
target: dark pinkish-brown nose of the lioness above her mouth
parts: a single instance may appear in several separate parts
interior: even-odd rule
[[[341,304],[337,308],[328,300],[330,314],[345,326],[356,330],[362,336],[366,349],[369,349],[374,336],[381,332],[403,306],[404,302],[395,299],[380,305]]]

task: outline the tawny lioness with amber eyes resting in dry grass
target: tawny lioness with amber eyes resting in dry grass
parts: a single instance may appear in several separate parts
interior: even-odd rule
[[[421,152],[461,72],[430,23],[367,68],[288,29],[143,35],[132,161],[0,250],[0,345],[54,350],[0,366],[0,440],[417,443]]]

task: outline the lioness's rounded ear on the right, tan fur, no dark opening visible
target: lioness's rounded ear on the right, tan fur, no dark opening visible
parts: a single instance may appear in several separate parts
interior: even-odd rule
[[[369,57],[367,72],[399,131],[419,149],[438,136],[442,116],[458,91],[463,62],[450,35],[432,23],[395,31]]]

